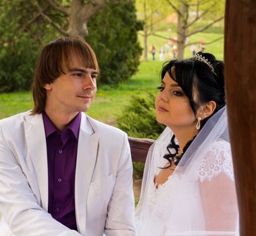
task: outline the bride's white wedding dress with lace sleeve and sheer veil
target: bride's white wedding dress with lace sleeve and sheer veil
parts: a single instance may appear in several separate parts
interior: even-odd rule
[[[238,235],[227,131],[224,108],[207,121],[168,180],[156,187],[159,167],[168,164],[163,155],[172,131],[165,128],[147,156],[136,208],[138,236]]]

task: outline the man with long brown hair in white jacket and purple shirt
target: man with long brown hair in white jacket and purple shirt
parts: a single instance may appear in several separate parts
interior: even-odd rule
[[[136,235],[127,136],[82,113],[98,73],[82,38],[41,52],[34,109],[0,121],[0,235]]]

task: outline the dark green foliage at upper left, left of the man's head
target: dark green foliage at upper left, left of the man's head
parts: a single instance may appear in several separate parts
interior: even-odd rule
[[[30,1],[1,0],[0,92],[30,90],[41,45],[58,35]]]

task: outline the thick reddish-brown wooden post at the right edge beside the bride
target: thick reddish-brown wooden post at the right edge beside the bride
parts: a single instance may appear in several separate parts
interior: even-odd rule
[[[256,233],[256,1],[227,0],[225,74],[240,236]]]

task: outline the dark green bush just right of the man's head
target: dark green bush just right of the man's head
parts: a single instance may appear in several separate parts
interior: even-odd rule
[[[143,28],[136,21],[134,1],[109,1],[88,23],[86,40],[95,50],[101,73],[101,84],[127,80],[137,70],[142,49],[137,31]]]

